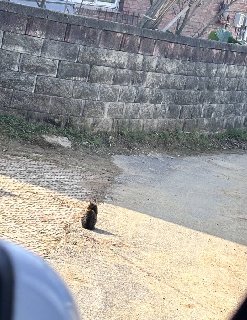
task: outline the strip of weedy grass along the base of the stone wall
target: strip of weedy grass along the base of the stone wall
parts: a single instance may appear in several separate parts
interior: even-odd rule
[[[9,139],[23,140],[28,143],[39,144],[41,136],[56,135],[67,137],[73,147],[94,146],[97,148],[162,148],[192,149],[196,151],[207,151],[214,148],[226,149],[226,144],[236,148],[238,143],[247,143],[246,129],[231,129],[227,132],[206,135],[197,132],[181,132],[176,129],[174,132],[93,132],[90,130],[78,131],[74,129],[60,129],[49,125],[32,124],[9,116],[0,115],[0,134]],[[231,148],[227,145],[227,148]],[[243,146],[241,146],[243,148]]]

